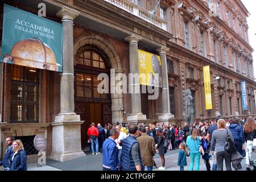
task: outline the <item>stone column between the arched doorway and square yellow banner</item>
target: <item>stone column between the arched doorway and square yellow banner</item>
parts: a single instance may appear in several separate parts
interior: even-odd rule
[[[141,40],[141,36],[132,34],[125,38],[129,45],[130,53],[130,73],[139,74],[139,59],[138,59],[138,42]],[[129,80],[129,86],[131,90],[135,90],[135,93],[131,94],[131,114],[127,114],[127,121],[137,122],[138,120],[147,119],[146,115],[143,115],[141,112],[141,93],[140,93],[140,84],[139,81],[136,81],[131,84]]]

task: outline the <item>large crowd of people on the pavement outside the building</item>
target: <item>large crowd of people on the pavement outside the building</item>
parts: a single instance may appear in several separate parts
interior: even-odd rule
[[[127,123],[127,126],[124,123],[115,123],[106,125],[104,131],[100,131],[101,128],[98,124],[94,130],[97,129],[96,138],[102,133],[102,140],[105,140],[98,149],[96,144],[96,154],[100,154],[99,151],[102,149],[104,170],[140,171],[147,167],[148,171],[152,171],[154,166],[157,167],[154,162],[156,152],[162,162],[158,169],[163,170],[166,164],[164,155],[167,150],[176,148],[180,150],[177,165],[181,171],[187,166],[187,157],[191,159],[191,171],[199,171],[201,159],[204,160],[207,171],[222,171],[224,159],[227,171],[231,171],[232,167],[236,170],[241,169],[244,157],[246,170],[254,170],[250,164],[253,139],[256,138],[256,122],[253,118],[222,119],[218,116],[210,123],[201,121],[190,126],[184,123],[183,127],[171,123]],[[88,133],[91,139],[92,134]],[[231,151],[232,145],[234,150]],[[91,147],[94,154],[93,142]],[[213,160],[212,167],[210,159]]]

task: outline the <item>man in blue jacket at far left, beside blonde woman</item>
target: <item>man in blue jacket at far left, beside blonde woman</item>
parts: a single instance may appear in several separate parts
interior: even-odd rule
[[[13,141],[14,137],[6,137],[5,143],[7,145],[7,149],[5,151],[5,156],[3,160],[0,162],[0,166],[3,166],[5,171],[10,171],[10,156],[13,153]]]

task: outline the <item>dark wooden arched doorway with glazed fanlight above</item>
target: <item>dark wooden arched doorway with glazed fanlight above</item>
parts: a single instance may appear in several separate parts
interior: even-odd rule
[[[87,130],[92,122],[112,123],[111,96],[100,94],[97,86],[100,83],[97,76],[106,73],[110,76],[108,57],[96,46],[82,46],[76,54],[75,69],[75,112],[80,114],[81,146],[85,149],[88,141]]]

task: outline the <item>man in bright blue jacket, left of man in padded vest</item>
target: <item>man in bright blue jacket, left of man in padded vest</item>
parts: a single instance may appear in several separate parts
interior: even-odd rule
[[[109,131],[109,138],[105,140],[102,146],[102,166],[103,171],[117,171],[118,167],[118,148],[115,139],[119,136],[117,129]]]

